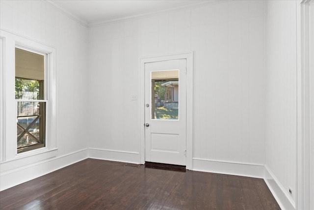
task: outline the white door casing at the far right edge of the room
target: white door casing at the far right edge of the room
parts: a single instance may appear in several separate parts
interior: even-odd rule
[[[313,124],[313,44],[310,9],[314,0],[297,0],[297,198],[296,209],[313,209],[314,201],[314,145]],[[312,29],[313,30],[313,29]],[[312,100],[312,101],[311,101]],[[312,118],[311,118],[312,117]]]

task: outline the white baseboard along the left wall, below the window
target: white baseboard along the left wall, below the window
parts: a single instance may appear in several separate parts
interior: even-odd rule
[[[0,174],[0,191],[49,174],[53,171],[84,160],[87,157],[87,150],[83,149],[36,162],[25,167],[5,171]]]

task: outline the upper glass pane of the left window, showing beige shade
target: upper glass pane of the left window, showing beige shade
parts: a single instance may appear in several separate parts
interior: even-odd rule
[[[15,99],[45,99],[44,78],[45,57],[15,48]]]

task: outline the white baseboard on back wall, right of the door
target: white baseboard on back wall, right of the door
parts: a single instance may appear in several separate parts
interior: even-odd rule
[[[262,164],[238,163],[193,158],[193,171],[263,179],[265,170]]]

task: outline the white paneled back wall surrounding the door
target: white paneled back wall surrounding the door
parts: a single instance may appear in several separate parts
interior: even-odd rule
[[[263,1],[93,27],[88,46],[91,148],[138,153],[138,59],[194,51],[194,159],[264,163]]]

